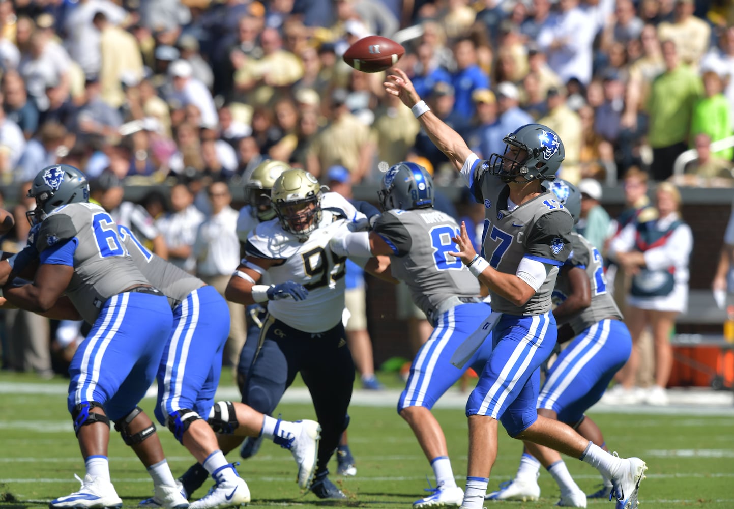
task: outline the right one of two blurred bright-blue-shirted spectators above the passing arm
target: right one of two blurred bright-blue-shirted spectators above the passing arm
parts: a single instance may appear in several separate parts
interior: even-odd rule
[[[478,88],[489,88],[490,79],[476,64],[476,43],[463,37],[454,43],[454,59],[457,69],[451,73],[454,87],[454,112],[468,122],[473,114],[471,94]]]

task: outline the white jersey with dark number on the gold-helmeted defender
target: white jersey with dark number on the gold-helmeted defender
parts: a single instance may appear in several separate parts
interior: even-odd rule
[[[270,267],[272,284],[295,281],[308,289],[308,297],[271,300],[268,312],[281,322],[308,333],[328,331],[341,321],[344,310],[346,258],[335,255],[329,241],[344,223],[365,219],[346,198],[335,192],[321,198],[321,222],[305,242],[283,230],[280,220],[260,223],[247,237],[247,256],[283,260]]]

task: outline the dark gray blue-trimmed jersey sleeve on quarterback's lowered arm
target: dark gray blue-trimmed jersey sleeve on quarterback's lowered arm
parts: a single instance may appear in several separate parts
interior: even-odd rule
[[[544,264],[562,265],[571,252],[571,214],[551,211],[535,221],[526,236],[525,257]]]

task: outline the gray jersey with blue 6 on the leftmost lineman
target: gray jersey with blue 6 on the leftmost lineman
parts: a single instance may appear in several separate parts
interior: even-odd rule
[[[74,274],[66,289],[74,307],[87,322],[97,319],[109,297],[134,286],[150,284],[128,254],[112,217],[94,203],[70,203],[60,206],[43,220],[36,248],[44,259],[48,248],[73,240],[76,249]],[[58,255],[53,261],[61,260]]]

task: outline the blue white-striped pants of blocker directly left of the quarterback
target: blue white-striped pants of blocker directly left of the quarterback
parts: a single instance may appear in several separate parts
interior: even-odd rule
[[[430,410],[438,398],[461,378],[465,370],[451,364],[451,355],[467,336],[482,325],[490,311],[490,306],[484,303],[461,304],[438,318],[428,341],[413,359],[410,377],[398,400],[398,413],[409,406],[422,406]],[[491,333],[467,365],[480,372],[490,353]]]

